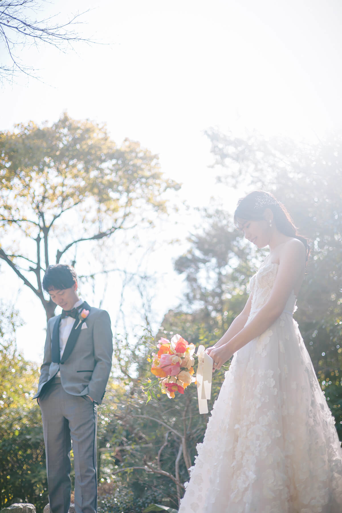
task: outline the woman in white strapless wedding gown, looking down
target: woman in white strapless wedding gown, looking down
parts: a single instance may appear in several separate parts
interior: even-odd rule
[[[270,253],[245,308],[207,349],[213,371],[234,358],[179,513],[341,513],[342,450],[292,317],[307,239],[264,191],[239,200],[234,223]]]

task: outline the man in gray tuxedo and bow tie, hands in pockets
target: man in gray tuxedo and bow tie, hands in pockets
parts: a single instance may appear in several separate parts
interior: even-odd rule
[[[48,321],[37,398],[42,411],[51,513],[68,513],[70,449],[75,467],[76,513],[97,511],[97,404],[112,365],[112,331],[105,310],[77,295],[69,265],[48,267],[43,287],[62,314]]]

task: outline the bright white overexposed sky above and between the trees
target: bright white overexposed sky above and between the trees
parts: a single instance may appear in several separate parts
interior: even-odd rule
[[[44,17],[60,12],[65,20],[88,8],[87,24],[77,30],[106,44],[79,43],[67,53],[48,46],[21,51],[43,82],[21,76],[17,84],[4,83],[0,130],[28,120],[52,123],[64,110],[105,122],[118,144],[129,137],[159,154],[165,174],[184,184],[178,203],[206,206],[214,195],[233,211],[245,191],[215,185],[205,129],[315,140],[340,126],[338,0],[52,0]],[[184,240],[192,227],[193,216],[185,215],[170,233]],[[183,242],[163,249],[160,270],[167,278],[156,292],[156,322],[178,303],[172,259],[185,248]],[[1,266],[5,300],[17,298],[12,274]],[[116,304],[107,291],[104,308],[113,315]],[[44,311],[24,287],[16,305],[26,322],[18,347],[39,361]]]

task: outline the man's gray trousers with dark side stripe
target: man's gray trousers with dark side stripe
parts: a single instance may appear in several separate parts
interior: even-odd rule
[[[67,393],[60,381],[60,378],[54,378],[47,390],[39,396],[51,513],[69,511],[71,441],[76,513],[96,513],[97,405],[89,397]]]

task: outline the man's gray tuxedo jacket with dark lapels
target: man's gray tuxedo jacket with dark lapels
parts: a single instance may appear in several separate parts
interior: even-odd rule
[[[77,341],[64,363],[52,362],[51,341],[53,327],[61,315],[48,321],[44,362],[41,367],[38,391],[39,397],[46,385],[58,372],[64,390],[72,396],[89,395],[98,404],[102,403],[112,366],[112,331],[106,310],[91,307],[85,320],[87,328],[81,329]],[[78,323],[78,319],[75,321]],[[63,358],[62,358],[63,361]],[[34,399],[33,398],[33,399]]]

